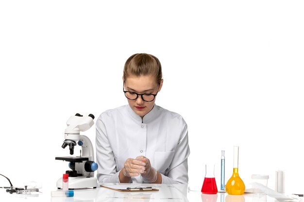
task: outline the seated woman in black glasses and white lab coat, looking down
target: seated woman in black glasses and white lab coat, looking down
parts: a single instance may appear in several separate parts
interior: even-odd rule
[[[126,61],[123,92],[129,105],[101,113],[96,122],[100,183],[188,183],[187,125],[154,104],[162,86],[155,56],[134,54]]]

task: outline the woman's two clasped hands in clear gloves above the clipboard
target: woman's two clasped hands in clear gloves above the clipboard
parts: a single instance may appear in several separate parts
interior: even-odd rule
[[[149,158],[137,156],[128,158],[124,163],[123,174],[126,177],[135,177],[141,174],[144,182],[155,182],[157,180],[157,171],[151,166]]]

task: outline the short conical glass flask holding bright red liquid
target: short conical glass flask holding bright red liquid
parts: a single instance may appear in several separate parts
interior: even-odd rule
[[[216,194],[218,193],[217,183],[215,182],[214,177],[214,164],[206,164],[206,174],[202,186],[203,194]]]

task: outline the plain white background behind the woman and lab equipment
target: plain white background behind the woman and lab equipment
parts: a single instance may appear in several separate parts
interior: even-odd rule
[[[145,52],[163,67],[156,104],[188,124],[189,186],[211,162],[220,188],[221,150],[227,181],[238,145],[245,185],[269,174],[274,189],[285,170],[286,192],[302,193],[303,11],[300,0],[0,1],[0,173],[56,189],[66,121],[127,104],[124,62]],[[95,125],[83,134],[95,147]]]

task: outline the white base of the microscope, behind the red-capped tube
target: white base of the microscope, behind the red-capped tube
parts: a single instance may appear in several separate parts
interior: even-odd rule
[[[62,177],[57,180],[57,188],[62,188]],[[90,176],[68,177],[68,189],[96,188],[97,178]]]

